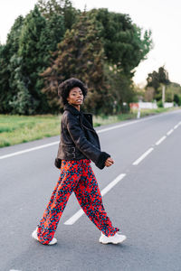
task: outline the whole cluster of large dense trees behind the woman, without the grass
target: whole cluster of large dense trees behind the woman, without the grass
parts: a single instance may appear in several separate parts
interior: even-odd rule
[[[70,77],[88,85],[87,110],[123,111],[134,99],[134,69],[151,47],[151,33],[127,14],[81,13],[71,0],[39,0],[0,44],[0,112],[57,113],[58,84]]]

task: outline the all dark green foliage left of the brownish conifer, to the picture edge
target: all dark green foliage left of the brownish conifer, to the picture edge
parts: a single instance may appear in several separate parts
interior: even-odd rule
[[[25,19],[17,18],[0,59],[5,63],[0,77],[0,86],[4,87],[0,88],[3,112],[26,115],[49,112],[41,91],[40,73],[50,64],[51,51],[57,49],[64,32],[62,15],[52,14],[49,20],[45,19],[37,6]]]

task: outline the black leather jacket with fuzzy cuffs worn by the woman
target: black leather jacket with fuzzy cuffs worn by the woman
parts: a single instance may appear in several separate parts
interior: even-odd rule
[[[55,165],[61,168],[61,161],[90,159],[100,169],[110,154],[100,151],[100,140],[92,126],[92,115],[85,114],[67,104],[61,122],[61,140]]]

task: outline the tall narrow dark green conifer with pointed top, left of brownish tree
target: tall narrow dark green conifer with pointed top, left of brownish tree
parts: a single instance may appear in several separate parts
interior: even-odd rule
[[[39,13],[37,6],[24,19],[18,52],[16,59],[12,61],[13,66],[14,64],[18,66],[14,70],[13,78],[16,94],[10,104],[17,107],[17,113],[20,113],[18,103],[21,104],[22,108],[24,107],[22,112],[32,112],[33,114],[41,111],[40,108],[44,109],[44,104],[46,104],[45,98],[38,88],[40,82],[37,78],[37,74],[43,69],[43,61],[40,58],[43,48],[40,49],[39,40],[45,23],[45,19]],[[28,104],[24,99],[27,96],[30,97]]]

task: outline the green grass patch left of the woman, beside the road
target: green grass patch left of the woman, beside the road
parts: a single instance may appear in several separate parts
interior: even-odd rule
[[[61,116],[0,115],[0,147],[60,134]]]

